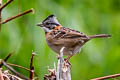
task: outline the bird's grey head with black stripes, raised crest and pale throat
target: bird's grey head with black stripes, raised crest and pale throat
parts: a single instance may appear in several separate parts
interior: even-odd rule
[[[60,23],[56,19],[55,15],[50,15],[45,20],[43,20],[42,23],[38,23],[37,26],[42,27],[45,32],[50,32],[55,27],[60,26]]]

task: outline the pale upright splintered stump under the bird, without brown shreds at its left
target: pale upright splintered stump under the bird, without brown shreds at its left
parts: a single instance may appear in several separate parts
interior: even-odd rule
[[[65,61],[63,58],[64,48],[65,47],[62,47],[60,50],[60,58],[58,59],[57,64],[56,80],[71,80],[71,65],[68,61]]]

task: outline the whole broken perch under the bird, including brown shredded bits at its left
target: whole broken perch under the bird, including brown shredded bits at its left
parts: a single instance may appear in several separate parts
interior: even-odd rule
[[[49,74],[45,74],[44,80],[71,80],[70,68],[71,64],[64,60],[63,51],[65,47],[60,50],[60,56],[57,63],[57,69],[54,63],[54,69],[48,69]]]

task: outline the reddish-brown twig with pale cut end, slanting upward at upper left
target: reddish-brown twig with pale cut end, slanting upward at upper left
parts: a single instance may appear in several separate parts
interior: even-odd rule
[[[5,24],[5,23],[7,23],[7,22],[9,22],[9,21],[11,21],[11,20],[13,20],[13,19],[15,19],[15,18],[18,18],[18,17],[23,16],[23,15],[25,15],[25,14],[28,14],[28,13],[30,13],[30,12],[34,12],[33,9],[29,9],[29,10],[23,12],[23,13],[17,14],[16,16],[10,17],[10,18],[8,18],[8,19],[0,22],[0,24]]]

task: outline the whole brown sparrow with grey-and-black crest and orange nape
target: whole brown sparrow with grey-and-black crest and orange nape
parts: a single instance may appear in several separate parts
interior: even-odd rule
[[[41,23],[38,23],[45,32],[45,39],[48,46],[60,55],[60,50],[63,50],[63,55],[68,56],[69,60],[73,55],[79,53],[82,46],[94,38],[109,38],[109,34],[86,35],[80,31],[63,27],[54,14],[49,15]]]

